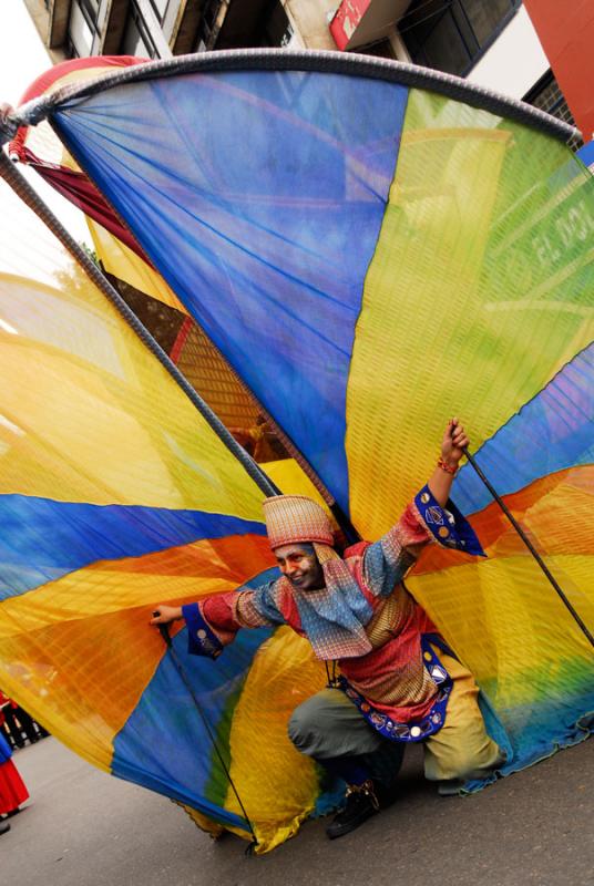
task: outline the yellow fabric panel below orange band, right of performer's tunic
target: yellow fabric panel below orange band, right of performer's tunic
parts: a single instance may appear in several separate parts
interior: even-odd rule
[[[594,557],[556,555],[545,563],[593,625]],[[528,550],[411,575],[407,587],[478,681],[489,683],[498,709],[534,701],[572,663],[577,676],[592,667],[590,643]]]

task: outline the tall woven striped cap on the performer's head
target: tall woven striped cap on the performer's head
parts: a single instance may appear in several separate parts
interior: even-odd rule
[[[332,527],[326,512],[305,495],[266,498],[264,519],[273,550],[301,542],[334,545]]]

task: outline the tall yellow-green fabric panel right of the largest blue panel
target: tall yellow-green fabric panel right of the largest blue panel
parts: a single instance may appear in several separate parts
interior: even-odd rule
[[[544,179],[571,161],[564,145],[529,135]],[[550,207],[545,188],[522,190],[528,147],[509,121],[411,90],[347,391],[351,518],[367,538],[430,476],[449,418],[464,420],[475,449],[592,339],[592,311],[537,258]],[[577,176],[570,195],[582,184]],[[514,253],[513,237],[531,225],[534,244]],[[588,260],[582,253],[576,268]]]

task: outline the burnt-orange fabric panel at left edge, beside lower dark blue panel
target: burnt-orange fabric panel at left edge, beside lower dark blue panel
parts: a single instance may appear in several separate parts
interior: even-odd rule
[[[150,606],[64,620],[59,597],[37,614],[34,596],[2,604],[3,628],[18,619],[0,636],[2,687],[71,750],[110,771],[112,741],[163,656],[147,627]]]

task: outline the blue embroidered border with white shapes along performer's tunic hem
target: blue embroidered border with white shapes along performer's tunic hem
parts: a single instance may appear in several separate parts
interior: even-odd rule
[[[360,692],[357,692],[357,690],[350,686],[345,677],[338,679],[339,689],[354,702],[369,725],[386,739],[406,742],[424,741],[430,735],[439,732],[445,722],[445,709],[452,691],[453,681],[431,648],[431,643],[438,646],[447,655],[454,657],[453,652],[441,637],[434,633],[422,635],[421,650],[423,663],[432,681],[438,687],[438,694],[431,705],[431,710],[421,720],[414,720],[410,723],[400,723],[397,720],[392,720],[387,713],[376,710]]]

